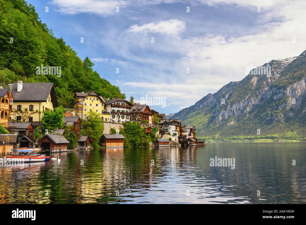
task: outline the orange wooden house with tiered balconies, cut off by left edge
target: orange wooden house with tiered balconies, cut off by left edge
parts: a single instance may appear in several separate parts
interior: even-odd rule
[[[10,103],[14,100],[9,89],[0,89],[0,124],[7,130],[9,128],[9,115],[12,108]]]

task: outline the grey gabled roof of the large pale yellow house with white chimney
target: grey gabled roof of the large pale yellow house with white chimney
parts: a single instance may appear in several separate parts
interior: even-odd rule
[[[15,102],[47,102],[51,94],[53,107],[58,107],[53,83],[23,83],[21,92],[17,92],[17,83],[12,85],[12,95]]]

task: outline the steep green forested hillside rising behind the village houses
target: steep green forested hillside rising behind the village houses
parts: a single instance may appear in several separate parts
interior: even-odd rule
[[[56,74],[36,74],[36,66],[61,66]],[[86,57],[73,49],[44,24],[34,6],[23,0],[0,0],[0,81],[3,86],[23,82],[53,82],[59,105],[73,107],[74,92],[94,91],[104,98],[123,98]]]

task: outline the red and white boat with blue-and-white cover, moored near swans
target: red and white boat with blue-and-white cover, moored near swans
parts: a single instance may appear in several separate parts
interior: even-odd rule
[[[13,150],[12,155],[5,156],[7,162],[31,163],[31,162],[43,162],[50,160],[50,156],[41,154],[40,148],[24,147],[12,150]]]

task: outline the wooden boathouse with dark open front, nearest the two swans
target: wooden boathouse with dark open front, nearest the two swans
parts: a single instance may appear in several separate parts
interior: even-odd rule
[[[67,144],[69,141],[61,134],[45,134],[37,142],[42,150],[50,150],[52,152],[67,152]]]

